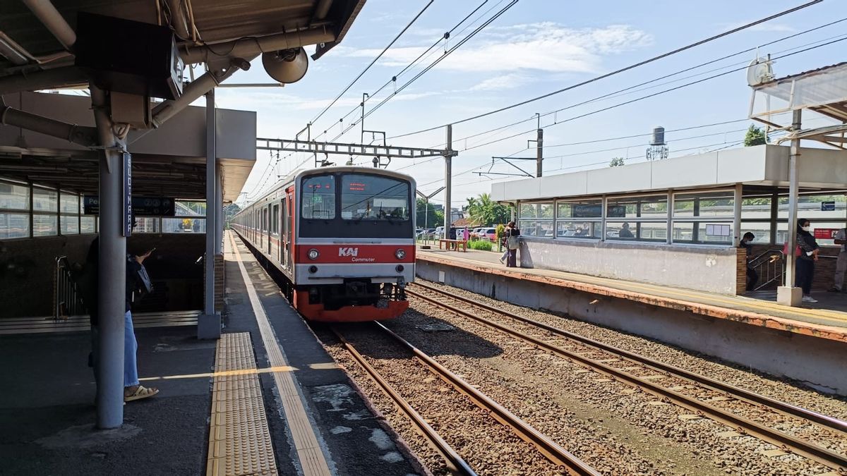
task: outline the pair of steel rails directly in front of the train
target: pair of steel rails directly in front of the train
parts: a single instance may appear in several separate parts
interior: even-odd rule
[[[365,357],[363,357],[362,354],[358,352],[348,340],[346,340],[340,330],[337,327],[331,327],[330,329],[340,340],[341,345],[344,346],[351,357],[361,366],[361,368],[363,368],[363,371],[368,374],[368,377],[373,379],[379,386],[380,390],[382,390],[392,401],[396,403],[397,407],[401,409],[401,412],[403,412],[407,418],[412,421],[415,428],[417,428],[421,434],[424,434],[424,437],[429,441],[429,444],[440,453],[441,457],[443,457],[446,461],[448,470],[453,474],[475,474],[468,463],[465,462],[462,457],[460,457],[457,452],[454,451],[451,446],[449,446],[446,441],[435,432],[435,429],[433,429],[429,423],[427,423],[426,420],[417,411],[415,411],[414,408],[412,408],[408,401],[406,401],[395,389],[393,389],[373,366],[368,364]],[[400,335],[397,335],[384,325],[376,322],[374,322],[374,329],[384,335],[390,336],[391,340],[396,341],[396,343],[403,346],[407,351],[412,352],[412,354],[417,357],[418,361],[424,363],[424,365],[429,368],[433,374],[437,375],[446,383],[452,385],[465,396],[468,396],[468,398],[473,401],[474,405],[483,409],[497,422],[506,425],[522,440],[535,446],[548,460],[562,468],[566,468],[568,473],[573,475],[594,476],[600,474],[594,468],[591,468],[588,464],[581,461],[578,457],[573,456],[573,454],[562,448],[562,446],[556,444],[555,441],[551,440],[545,434],[541,434],[538,430],[534,429],[529,425],[529,423],[524,422],[521,418],[518,418],[505,407],[502,407],[499,403],[492,400],[489,396],[485,396],[484,393],[468,384],[468,382],[460,378],[457,374],[453,374],[449,369],[445,368],[440,363],[437,363],[435,359],[429,357],[426,353],[424,353],[424,351],[412,346],[411,343],[404,340]]]

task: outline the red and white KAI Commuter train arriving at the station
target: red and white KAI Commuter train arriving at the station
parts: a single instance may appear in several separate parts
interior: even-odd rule
[[[285,276],[303,317],[396,318],[415,276],[415,181],[363,167],[295,174],[241,210],[230,227]]]

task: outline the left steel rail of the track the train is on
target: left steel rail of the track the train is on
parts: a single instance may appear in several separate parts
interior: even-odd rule
[[[343,335],[335,329],[335,327],[330,326],[329,330],[335,334],[335,337],[340,340],[341,345],[344,346],[347,352],[353,357],[353,360],[359,364],[361,368],[368,374],[370,379],[374,380],[376,385],[379,385],[380,390],[385,393],[391,400],[394,401],[395,405],[400,408],[401,412],[406,414],[406,417],[412,422],[412,424],[418,429],[418,431],[424,435],[424,437],[429,440],[429,445],[435,448],[435,451],[444,458],[444,461],[447,465],[447,470],[451,474],[462,475],[462,476],[476,476],[476,472],[468,465],[459,454],[453,450],[453,448],[443,439],[438,432],[435,431],[429,423],[426,423],[424,417],[420,415],[420,413],[416,412],[409,402],[406,401],[396,390],[394,390],[391,385],[383,379],[382,375],[377,372],[377,370],[365,361],[365,358],[359,351],[356,350],[355,347],[348,342]]]

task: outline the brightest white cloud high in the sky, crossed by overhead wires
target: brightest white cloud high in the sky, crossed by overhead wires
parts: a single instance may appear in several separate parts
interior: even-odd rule
[[[451,39],[448,46],[459,39]],[[645,31],[628,25],[609,25],[604,28],[574,30],[544,22],[512,25],[483,30],[438,68],[462,72],[495,72],[534,70],[545,72],[597,72],[603,56],[630,51],[650,45],[652,37]],[[424,47],[391,48],[379,63],[383,66],[405,66]],[[443,54],[443,49],[440,50]],[[346,56],[374,58],[377,49],[349,49]],[[437,58],[434,55],[429,62]]]

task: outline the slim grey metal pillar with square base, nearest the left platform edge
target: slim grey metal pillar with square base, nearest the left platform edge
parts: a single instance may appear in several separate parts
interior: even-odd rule
[[[218,187],[217,151],[215,150],[214,89],[206,93],[206,279],[203,282],[205,299],[203,314],[197,318],[197,339],[219,339],[220,314],[214,309],[214,252],[218,228],[215,213],[216,190]]]

